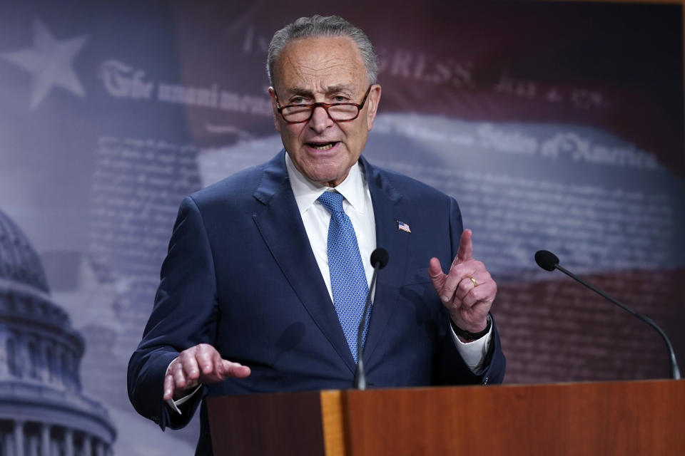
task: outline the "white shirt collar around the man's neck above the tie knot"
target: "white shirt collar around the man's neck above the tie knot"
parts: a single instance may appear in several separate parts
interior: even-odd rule
[[[323,192],[332,190],[333,188],[318,185],[308,180],[307,177],[295,167],[293,160],[290,160],[290,155],[288,155],[287,152],[285,154],[285,167],[288,170],[290,188],[293,189],[293,195],[295,195],[295,201],[298,203],[300,214],[307,212]],[[347,199],[347,202],[352,205],[352,208],[355,209],[356,212],[359,212],[360,214],[365,212],[366,200],[364,192],[366,190],[366,179],[359,162],[352,165],[345,180],[334,188]]]

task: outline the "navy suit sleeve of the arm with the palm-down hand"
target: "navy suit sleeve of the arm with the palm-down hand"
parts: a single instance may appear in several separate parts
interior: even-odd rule
[[[178,353],[198,343],[214,344],[218,317],[213,255],[201,212],[192,197],[178,210],[152,314],[128,362],[128,398],[138,413],[166,426],[185,426],[203,397],[198,392],[170,414],[163,380]]]

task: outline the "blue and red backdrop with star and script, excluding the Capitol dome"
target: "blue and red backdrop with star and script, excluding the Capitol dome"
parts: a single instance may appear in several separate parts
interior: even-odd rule
[[[136,415],[126,363],[183,196],[282,147],[266,48],[317,13],[380,56],[365,156],[460,203],[499,284],[507,383],[668,375],[654,331],[540,270],[538,249],[661,323],[685,365],[680,5],[288,3],[0,3],[0,211],[85,338],[118,454],[192,451],[196,424]]]

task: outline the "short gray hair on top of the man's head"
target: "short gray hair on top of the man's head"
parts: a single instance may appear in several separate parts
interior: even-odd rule
[[[317,38],[322,36],[348,36],[357,44],[369,83],[375,84],[378,76],[378,57],[373,51],[373,45],[361,28],[355,27],[340,16],[301,17],[293,24],[281,28],[273,34],[269,43],[269,55],[266,60],[266,73],[269,83],[274,86],[273,67],[278,61],[281,51],[290,41],[298,38]]]

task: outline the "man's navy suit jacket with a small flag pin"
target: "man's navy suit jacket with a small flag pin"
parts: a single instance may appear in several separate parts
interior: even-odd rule
[[[151,317],[128,365],[138,413],[186,425],[205,395],[352,388],[355,361],[330,300],[290,188],[282,150],[186,197],[161,269]],[[500,383],[497,331],[487,368],[474,375],[447,332],[449,314],[427,273],[457,254],[462,219],[455,199],[360,158],[371,193],[380,271],[364,363],[370,388]],[[411,232],[397,229],[405,222]],[[183,415],[163,403],[163,376],[178,352],[209,343],[251,375],[206,385]],[[203,402],[203,401],[202,401]],[[210,454],[204,405],[198,454]]]

